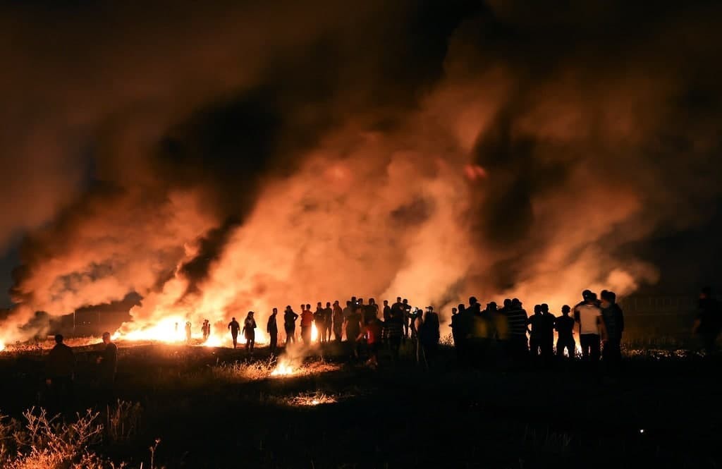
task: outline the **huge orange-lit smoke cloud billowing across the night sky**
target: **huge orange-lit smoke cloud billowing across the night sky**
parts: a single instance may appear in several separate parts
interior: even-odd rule
[[[4,14],[4,334],[656,280],[629,246],[719,196],[719,7],[392,3]]]

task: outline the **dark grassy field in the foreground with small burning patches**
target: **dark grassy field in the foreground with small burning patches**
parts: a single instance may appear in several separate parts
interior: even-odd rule
[[[249,356],[121,344],[118,408],[97,392],[95,347],[76,349],[73,410],[99,412],[103,429],[82,446],[116,467],[722,465],[720,363],[682,350],[630,350],[623,369],[610,374],[580,363],[460,369],[451,348],[440,350],[429,371],[415,366],[410,348],[399,363],[382,356],[369,369],[331,345],[306,357],[303,373],[274,377],[264,348]],[[44,403],[42,353],[0,353],[6,447],[10,419],[25,424],[23,411],[35,406],[37,415]]]

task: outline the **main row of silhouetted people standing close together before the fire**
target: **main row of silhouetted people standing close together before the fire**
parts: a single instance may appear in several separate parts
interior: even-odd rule
[[[621,358],[620,345],[624,330],[624,314],[611,291],[602,291],[601,298],[591,291],[582,293],[582,301],[575,305],[562,306],[562,314],[554,317],[547,304],[534,306],[529,316],[517,298],[506,299],[501,308],[495,302],[485,307],[477,298],[469,298],[469,304],[459,304],[451,311],[451,332],[453,345],[460,361],[471,363],[486,361],[494,356],[505,356],[514,361],[531,357],[548,360],[554,356],[554,332],[557,332],[556,355],[573,358],[576,353],[573,331],[578,329],[582,358],[599,360],[601,350],[604,359],[618,361]],[[430,357],[438,347],[441,331],[438,314],[433,306],[425,311],[414,308],[401,297],[389,304],[387,300],[378,305],[374,298],[364,303],[363,298],[352,297],[344,307],[339,301],[321,301],[312,311],[310,304],[302,304],[300,314],[286,306],[282,317],[285,344],[297,340],[297,322],[300,319],[300,340],[311,343],[311,330],[316,327],[318,342],[340,343],[345,339],[352,355],[360,356],[360,350],[367,350],[368,363],[378,364],[378,350],[388,348],[392,360],[399,357],[401,344],[412,340],[417,350],[417,361],[428,366]],[[570,314],[573,313],[572,316]],[[266,324],[271,353],[277,353],[279,342],[278,309],[274,308]],[[234,346],[237,343],[240,324],[235,318],[228,324]],[[243,325],[246,348],[253,350],[256,321],[249,311]],[[604,343],[604,348],[601,344]]]

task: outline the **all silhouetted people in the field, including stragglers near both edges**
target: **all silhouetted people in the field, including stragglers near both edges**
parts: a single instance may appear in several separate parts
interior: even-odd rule
[[[279,353],[278,309],[274,308],[266,322],[271,354]],[[243,334],[245,347],[253,351],[255,345],[256,319],[249,311],[243,326],[234,318],[228,324],[233,347],[238,345],[238,334]],[[342,307],[339,301],[319,301],[316,310],[310,304],[301,305],[297,314],[286,306],[282,316],[285,344],[297,340],[296,323],[300,319],[300,340],[310,345],[313,327],[321,344],[344,343],[353,358],[365,353],[366,363],[378,366],[381,348],[388,350],[392,361],[399,359],[401,345],[410,341],[419,365],[428,368],[435,356],[442,336],[439,316],[432,306],[425,311],[412,307],[406,298],[378,305],[374,298],[365,303],[363,298],[352,297]],[[485,307],[477,298],[469,298],[469,304],[459,304],[451,309],[451,335],[458,361],[462,364],[483,364],[490,361],[537,363],[552,360],[575,359],[577,333],[580,357],[588,363],[601,359],[614,366],[622,358],[621,343],[625,330],[622,308],[612,291],[601,291],[599,298],[591,291],[582,292],[582,301],[571,307],[564,305],[561,314],[554,316],[547,304],[534,306],[529,315],[518,298],[508,298],[498,307],[492,301]],[[176,324],[176,329],[177,329]],[[204,338],[210,336],[210,323],[204,321]],[[722,309],[712,296],[710,288],[700,293],[699,309],[693,327],[700,337],[703,348],[712,355],[716,352],[716,340],[722,331]],[[557,335],[554,347],[554,332]],[[190,340],[191,323],[186,322],[186,338]],[[46,358],[47,385],[52,400],[63,401],[72,389],[74,354],[64,344],[64,337],[56,335],[56,345]],[[116,376],[118,349],[110,340],[110,333],[103,334],[103,351],[97,356],[100,389],[112,394]],[[556,350],[554,350],[556,349]]]

